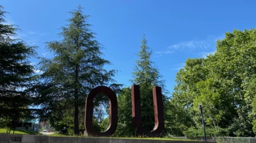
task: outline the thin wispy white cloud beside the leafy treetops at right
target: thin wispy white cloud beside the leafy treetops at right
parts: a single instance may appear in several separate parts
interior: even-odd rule
[[[223,36],[222,36],[223,37]],[[214,53],[216,50],[216,41],[222,37],[208,37],[205,40],[190,40],[181,43],[173,44],[167,47],[166,50],[155,52],[157,57],[175,52],[189,52],[198,56],[206,57],[209,53]]]

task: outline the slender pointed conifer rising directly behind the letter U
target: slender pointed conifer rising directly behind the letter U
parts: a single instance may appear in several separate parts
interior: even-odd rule
[[[146,130],[154,128],[154,106],[152,98],[152,88],[155,86],[161,87],[163,93],[166,92],[164,81],[161,80],[158,69],[154,67],[154,62],[151,61],[152,49],[147,46],[145,34],[143,34],[142,46],[137,54],[139,59],[136,61],[136,67],[133,72],[133,84],[140,85],[140,101],[142,106],[142,123]],[[163,100],[167,97],[164,96]]]

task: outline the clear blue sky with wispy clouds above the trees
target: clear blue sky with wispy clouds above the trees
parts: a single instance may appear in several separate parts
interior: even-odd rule
[[[60,40],[60,27],[67,24],[70,10],[78,5],[92,17],[89,23],[96,39],[104,45],[104,58],[113,65],[107,69],[120,72],[115,79],[131,86],[129,80],[139,52],[142,34],[154,51],[152,61],[166,80],[167,90],[173,91],[176,72],[187,58],[205,57],[216,50],[216,40],[233,29],[256,26],[256,1],[1,1],[8,11],[8,23],[22,31],[18,37],[39,46],[39,56],[51,58],[45,42]],[[31,62],[38,62],[31,59]]]

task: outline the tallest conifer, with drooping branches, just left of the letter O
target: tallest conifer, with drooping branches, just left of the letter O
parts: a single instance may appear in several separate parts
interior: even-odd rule
[[[79,107],[84,107],[86,95],[92,88],[113,83],[116,70],[104,69],[104,65],[111,63],[101,58],[103,47],[95,40],[95,33],[90,29],[91,25],[87,22],[89,16],[83,14],[80,6],[70,14],[72,17],[67,20],[69,25],[61,28],[62,40],[47,43],[54,58],[42,58],[40,62],[44,83],[38,101],[39,104],[43,102],[41,106],[46,111],[43,114],[49,116],[73,108],[74,133],[78,135]],[[119,85],[110,86],[114,88]]]

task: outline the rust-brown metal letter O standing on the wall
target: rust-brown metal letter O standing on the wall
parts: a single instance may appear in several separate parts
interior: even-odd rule
[[[98,132],[93,128],[93,99],[97,94],[105,94],[110,99],[110,124],[105,132]],[[99,86],[93,88],[86,98],[86,114],[84,127],[88,135],[92,136],[111,136],[117,127],[117,97],[113,90],[108,87]]]

